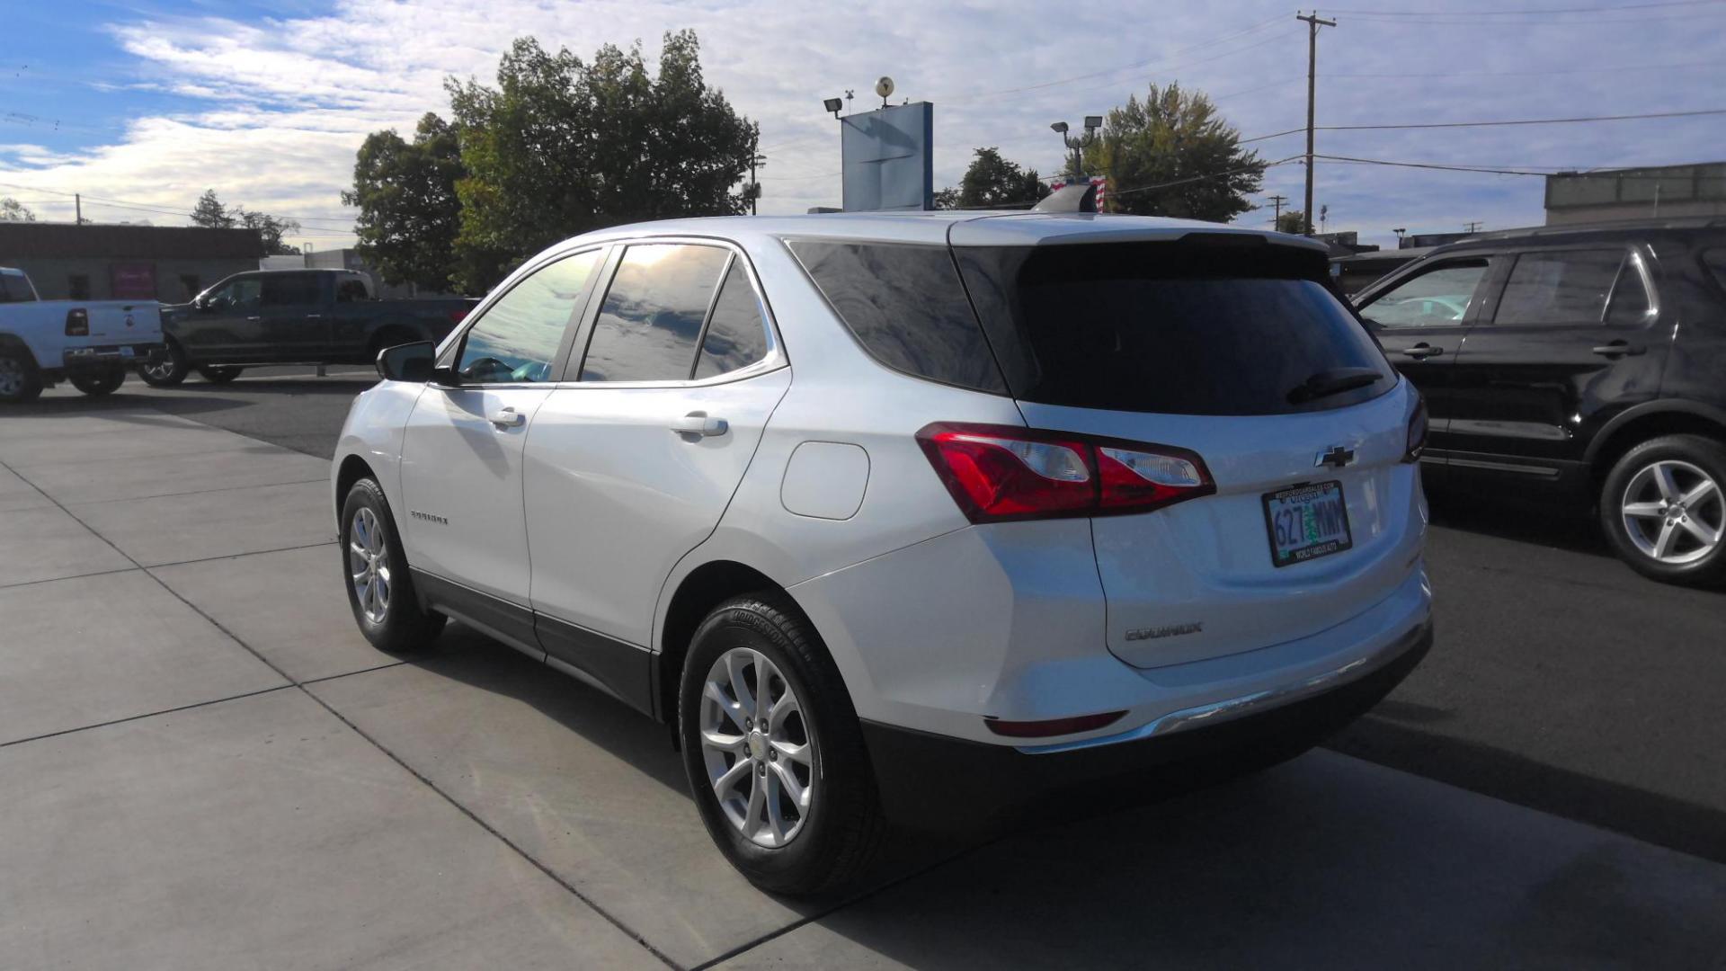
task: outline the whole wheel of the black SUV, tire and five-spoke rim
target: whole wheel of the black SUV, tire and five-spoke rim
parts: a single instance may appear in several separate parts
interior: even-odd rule
[[[1600,525],[1638,574],[1690,586],[1726,581],[1726,444],[1662,435],[1617,460],[1600,489]]]

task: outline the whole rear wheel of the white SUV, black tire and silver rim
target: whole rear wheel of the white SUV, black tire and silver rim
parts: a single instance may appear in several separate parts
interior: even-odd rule
[[[678,734],[708,833],[761,890],[834,893],[873,862],[887,824],[856,710],[784,594],[734,598],[701,624]]]

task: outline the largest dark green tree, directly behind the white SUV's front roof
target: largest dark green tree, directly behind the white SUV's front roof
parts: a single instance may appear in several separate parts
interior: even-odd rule
[[[759,128],[702,81],[699,52],[694,31],[665,35],[652,76],[639,45],[583,62],[520,38],[495,88],[449,79],[468,169],[456,183],[457,285],[487,289],[589,230],[747,211],[739,183]]]

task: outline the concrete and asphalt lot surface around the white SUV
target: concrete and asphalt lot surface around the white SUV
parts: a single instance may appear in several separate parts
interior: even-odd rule
[[[1726,961],[1726,598],[1586,524],[1434,503],[1438,646],[1329,752],[787,904],[663,729],[461,627],[354,632],[324,460],[369,380],[0,415],[7,966]]]

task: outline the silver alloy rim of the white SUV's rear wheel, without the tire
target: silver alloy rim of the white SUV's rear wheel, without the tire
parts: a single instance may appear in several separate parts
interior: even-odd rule
[[[815,738],[766,655],[732,648],[708,669],[701,757],[725,817],[758,847],[784,847],[815,805]]]

